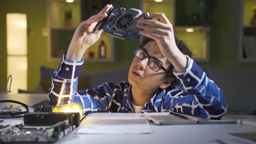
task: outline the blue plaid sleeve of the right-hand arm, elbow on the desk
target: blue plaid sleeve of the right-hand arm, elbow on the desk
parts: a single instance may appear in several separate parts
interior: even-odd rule
[[[202,118],[219,119],[227,110],[223,92],[197,65],[188,57],[188,66],[184,73],[173,74],[181,83],[184,91],[171,94],[170,110]]]

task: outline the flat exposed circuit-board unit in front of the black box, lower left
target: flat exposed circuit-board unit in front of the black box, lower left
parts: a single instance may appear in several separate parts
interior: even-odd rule
[[[75,125],[58,122],[51,126],[11,125],[0,129],[0,143],[46,143],[60,140],[75,129]]]

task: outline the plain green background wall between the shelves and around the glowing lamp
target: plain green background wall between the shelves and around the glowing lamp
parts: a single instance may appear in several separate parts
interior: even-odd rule
[[[256,69],[255,63],[238,62],[238,23],[240,3],[232,0],[216,0],[212,15],[213,24],[210,34],[210,62],[200,63],[228,69]],[[112,1],[112,4],[126,8],[140,8],[139,1]],[[57,61],[48,61],[48,38],[42,35],[46,25],[45,0],[0,0],[0,92],[7,80],[6,56],[6,17],[7,13],[26,13],[27,26],[33,29],[33,35],[28,35],[28,89],[39,82],[39,67],[45,65],[56,69]],[[137,40],[114,40],[115,62],[87,62],[83,71],[98,71],[130,65]],[[13,80],[15,81],[15,80]]]

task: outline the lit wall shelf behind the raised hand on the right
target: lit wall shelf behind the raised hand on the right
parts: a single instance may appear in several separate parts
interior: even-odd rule
[[[197,62],[210,59],[210,22],[205,20],[204,9],[197,0],[142,0],[142,10],[164,13],[173,25],[177,39],[183,40]]]

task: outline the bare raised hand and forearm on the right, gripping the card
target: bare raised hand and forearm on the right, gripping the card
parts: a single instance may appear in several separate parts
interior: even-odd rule
[[[183,72],[187,67],[187,58],[176,45],[172,23],[163,13],[153,13],[148,18],[138,20],[137,27],[142,29],[139,33],[154,39],[162,55],[172,63],[175,70]]]

